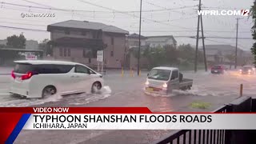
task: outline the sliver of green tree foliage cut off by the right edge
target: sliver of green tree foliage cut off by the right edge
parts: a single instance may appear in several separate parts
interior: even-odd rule
[[[254,1],[254,6],[251,7],[251,13],[250,16],[253,18],[254,26],[252,26],[252,36],[253,39],[256,41],[256,1]],[[256,64],[256,42],[254,42],[254,45],[250,49],[251,53],[254,55],[254,64]]]

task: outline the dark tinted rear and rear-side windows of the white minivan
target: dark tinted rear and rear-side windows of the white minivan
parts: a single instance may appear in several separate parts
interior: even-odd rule
[[[37,72],[38,74],[65,74],[70,72],[74,66],[72,65],[31,65],[26,63],[17,63],[14,68],[14,73],[26,74],[29,71]]]

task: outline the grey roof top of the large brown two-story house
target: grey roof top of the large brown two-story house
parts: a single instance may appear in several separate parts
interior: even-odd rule
[[[106,25],[100,22],[88,22],[88,21],[76,21],[68,20],[65,22],[58,22],[47,26],[47,30],[50,31],[56,27],[74,28],[74,29],[85,29],[85,30],[102,30],[110,33],[129,34],[128,31],[122,30],[116,26]]]

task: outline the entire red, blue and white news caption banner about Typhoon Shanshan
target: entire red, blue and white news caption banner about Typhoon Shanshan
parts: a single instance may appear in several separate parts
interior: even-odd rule
[[[152,113],[146,107],[2,107],[0,142],[13,143],[21,130],[256,130],[255,121],[251,113]]]

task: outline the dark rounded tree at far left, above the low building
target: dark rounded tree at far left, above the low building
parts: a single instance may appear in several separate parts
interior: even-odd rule
[[[12,35],[10,37],[7,37],[7,47],[10,48],[16,48],[16,49],[25,49],[26,47],[26,38],[23,34],[18,35]]]

